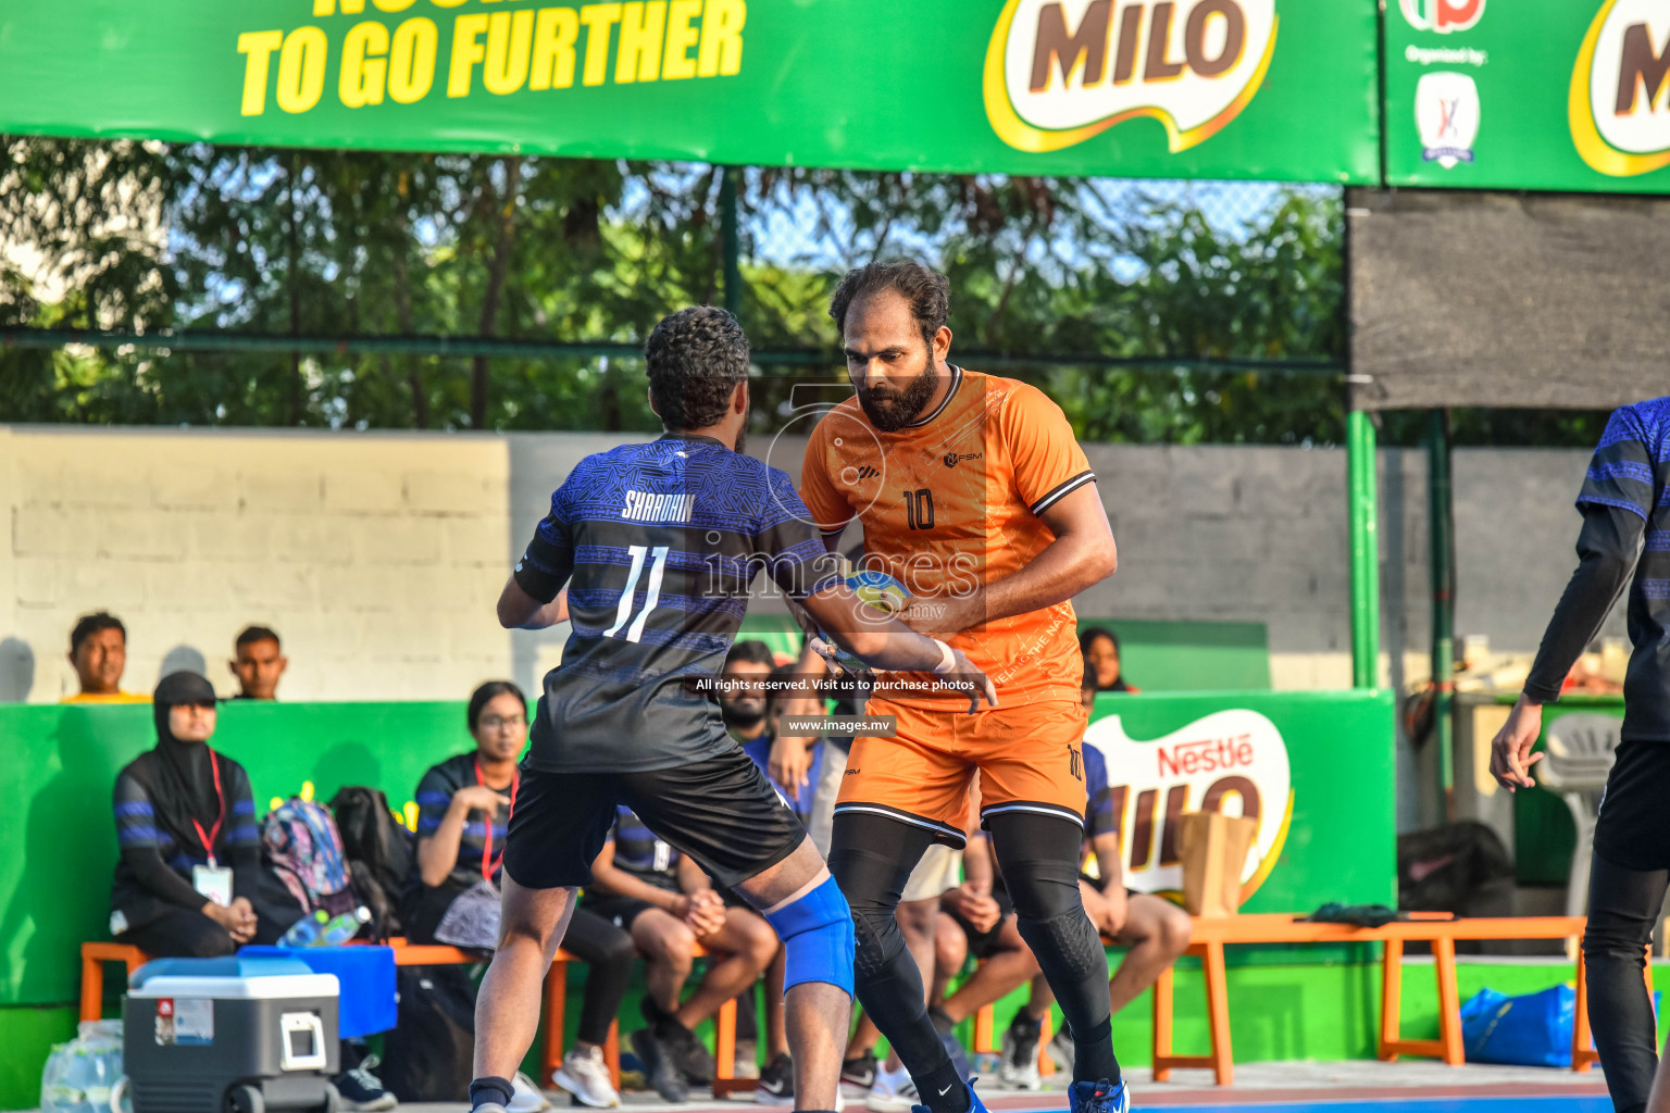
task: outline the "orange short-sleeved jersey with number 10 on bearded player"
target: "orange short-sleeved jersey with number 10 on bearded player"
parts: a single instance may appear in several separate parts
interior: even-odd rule
[[[932,599],[1024,569],[1055,541],[1039,514],[1094,481],[1067,417],[1042,390],[954,367],[945,400],[898,432],[875,429],[857,397],[825,414],[800,494],[825,531],[858,519],[865,566]],[[984,622],[950,644],[992,677],[1002,706],[1079,699],[1084,659],[1070,602]],[[890,689],[882,677],[875,694],[965,703],[925,691],[929,679],[907,676],[908,687]]]

